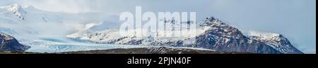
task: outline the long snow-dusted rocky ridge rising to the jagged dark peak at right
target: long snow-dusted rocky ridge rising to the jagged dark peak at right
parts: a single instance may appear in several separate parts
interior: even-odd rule
[[[196,31],[196,44],[184,44],[190,38],[137,38],[122,37],[118,30],[101,30],[90,33],[74,33],[70,38],[93,40],[99,43],[123,45],[161,45],[170,47],[200,47],[225,52],[254,52],[266,54],[301,54],[283,35],[270,33],[251,33],[243,35],[240,30],[229,26],[217,18],[210,17],[199,22]],[[91,31],[91,30],[90,30]],[[257,35],[261,34],[261,35]],[[149,40],[151,39],[151,40]]]

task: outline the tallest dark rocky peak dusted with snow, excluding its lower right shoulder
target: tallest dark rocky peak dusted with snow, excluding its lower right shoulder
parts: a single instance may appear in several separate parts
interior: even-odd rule
[[[237,28],[228,26],[213,17],[207,18],[201,27],[208,27],[208,30],[196,37],[196,47],[225,52],[281,53],[264,42],[247,38]]]

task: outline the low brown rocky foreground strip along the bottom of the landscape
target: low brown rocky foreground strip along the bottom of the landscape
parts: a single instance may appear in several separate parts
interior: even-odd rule
[[[249,54],[247,52],[218,52],[213,50],[194,50],[170,47],[141,47],[129,49],[88,50],[74,52],[0,52],[0,54]]]

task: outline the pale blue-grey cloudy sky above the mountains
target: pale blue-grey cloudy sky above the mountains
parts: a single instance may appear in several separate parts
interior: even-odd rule
[[[1,0],[45,11],[119,15],[123,11],[195,11],[197,20],[215,16],[243,32],[280,33],[305,53],[316,53],[315,0]]]

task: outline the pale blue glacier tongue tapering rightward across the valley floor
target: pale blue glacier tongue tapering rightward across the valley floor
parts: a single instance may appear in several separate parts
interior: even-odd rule
[[[67,38],[64,39],[65,40],[59,40],[59,38],[45,38],[43,40],[20,40],[19,42],[31,46],[29,50],[26,50],[26,52],[71,52],[83,50],[108,50],[116,48],[148,47],[141,45],[96,44],[93,42],[81,42],[83,40],[67,40]]]

